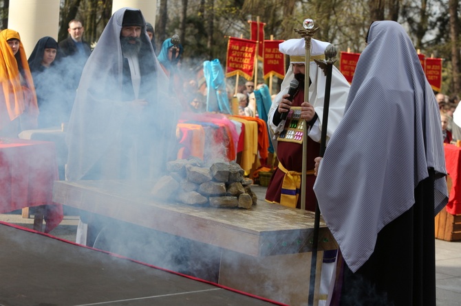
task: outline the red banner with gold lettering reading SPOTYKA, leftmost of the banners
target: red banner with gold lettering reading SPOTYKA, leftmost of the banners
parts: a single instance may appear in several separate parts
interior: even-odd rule
[[[238,74],[251,80],[255,68],[255,53],[255,41],[230,37],[227,45],[226,78]]]

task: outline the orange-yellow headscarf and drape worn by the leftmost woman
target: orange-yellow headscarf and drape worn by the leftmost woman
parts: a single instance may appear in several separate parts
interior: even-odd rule
[[[8,40],[15,38],[19,40],[19,57],[24,71],[25,86],[21,84],[19,75],[18,62],[13,55]],[[3,90],[4,104],[0,106],[1,119],[10,118],[10,121],[16,119],[24,112],[31,115],[36,120],[39,115],[39,106],[36,100],[34,82],[30,73],[28,59],[25,56],[23,44],[19,33],[6,29],[0,32],[0,82]],[[24,87],[27,87],[26,89]],[[8,115],[3,113],[8,112]],[[3,121],[3,120],[2,120]],[[0,128],[4,126],[0,122]]]

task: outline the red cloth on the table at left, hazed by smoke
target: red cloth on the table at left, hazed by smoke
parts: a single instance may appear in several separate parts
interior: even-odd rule
[[[58,180],[54,143],[0,138],[0,213],[48,205],[45,233],[63,220],[63,207],[52,203]]]

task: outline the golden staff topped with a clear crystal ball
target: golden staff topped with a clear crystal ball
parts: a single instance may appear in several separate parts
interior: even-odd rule
[[[294,29],[299,36],[305,40],[305,71],[304,71],[304,101],[309,102],[309,73],[310,73],[310,39],[320,29],[320,27],[314,28],[314,21],[312,19],[304,19],[303,21],[304,30]],[[305,180],[306,172],[308,171],[308,124],[303,119],[303,163],[301,165],[301,209],[305,209]]]

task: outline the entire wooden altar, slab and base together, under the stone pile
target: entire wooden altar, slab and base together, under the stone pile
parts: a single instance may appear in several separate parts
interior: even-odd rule
[[[107,241],[118,242],[116,249],[108,247],[111,252],[272,301],[307,305],[314,213],[267,202],[252,209],[193,207],[159,202],[150,189],[125,181],[56,181],[53,200],[114,220],[105,227]],[[171,239],[165,242],[165,236]],[[336,248],[321,222],[318,276],[323,250]],[[181,259],[182,266],[169,266],[167,257]]]

